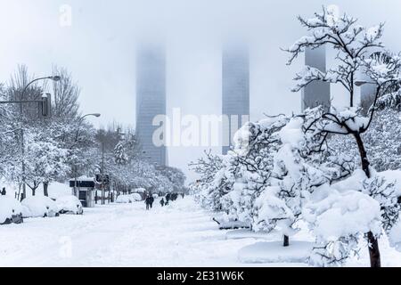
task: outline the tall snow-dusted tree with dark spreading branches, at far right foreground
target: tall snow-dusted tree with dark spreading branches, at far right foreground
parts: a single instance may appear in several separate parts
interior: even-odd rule
[[[399,57],[389,54],[386,62],[372,58],[369,53],[372,49],[382,49],[381,36],[383,24],[372,28],[364,28],[356,24],[357,20],[344,14],[337,17],[333,12],[323,7],[323,12],[315,13],[312,19],[299,17],[301,25],[307,28],[308,35],[301,37],[294,45],[286,49],[291,54],[288,64],[291,64],[299,54],[307,48],[328,46],[337,52],[334,65],[327,71],[306,67],[295,77],[297,84],[294,92],[300,91],[305,86],[315,81],[328,82],[341,85],[348,93],[348,106],[341,109],[331,108],[324,111],[319,118],[307,126],[306,132],[321,133],[322,144],[329,134],[350,135],[356,142],[360,157],[360,165],[366,178],[372,177],[370,162],[367,157],[363,134],[372,125],[372,119],[377,108],[377,102],[383,94],[400,81]],[[355,104],[355,91],[357,75],[364,72],[370,77],[371,82],[377,86],[374,102],[368,116],[364,117],[360,108]],[[366,232],[369,241],[371,265],[381,266],[381,256],[378,244],[378,232]]]

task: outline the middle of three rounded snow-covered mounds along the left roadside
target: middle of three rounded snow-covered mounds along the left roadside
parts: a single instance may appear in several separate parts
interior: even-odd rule
[[[45,196],[32,196],[22,200],[23,217],[58,216],[59,208],[53,199]]]

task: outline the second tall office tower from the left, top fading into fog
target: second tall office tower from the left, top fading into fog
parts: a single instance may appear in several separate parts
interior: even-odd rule
[[[250,119],[250,54],[248,47],[225,46],[222,56],[223,154],[233,135]]]

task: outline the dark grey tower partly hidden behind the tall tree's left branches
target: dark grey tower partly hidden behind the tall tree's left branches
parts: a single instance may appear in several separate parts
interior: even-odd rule
[[[323,72],[326,71],[326,49],[319,47],[305,51],[305,65]],[[330,109],[330,83],[312,82],[302,90],[302,111],[323,105],[326,110]]]

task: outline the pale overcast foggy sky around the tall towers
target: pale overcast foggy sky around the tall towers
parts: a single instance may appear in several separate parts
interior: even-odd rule
[[[60,22],[63,4],[72,9],[68,27]],[[0,81],[21,63],[37,76],[57,64],[82,87],[83,113],[102,113],[91,119],[95,126],[113,120],[135,126],[135,45],[162,39],[168,47],[168,113],[220,114],[219,46],[225,37],[241,37],[251,50],[251,118],[291,113],[300,108],[290,87],[302,59],[287,67],[280,47],[305,34],[296,16],[312,16],[323,4],[337,4],[364,25],[385,21],[384,43],[401,51],[399,0],[0,0]],[[170,165],[186,168],[201,149],[168,153]]]

